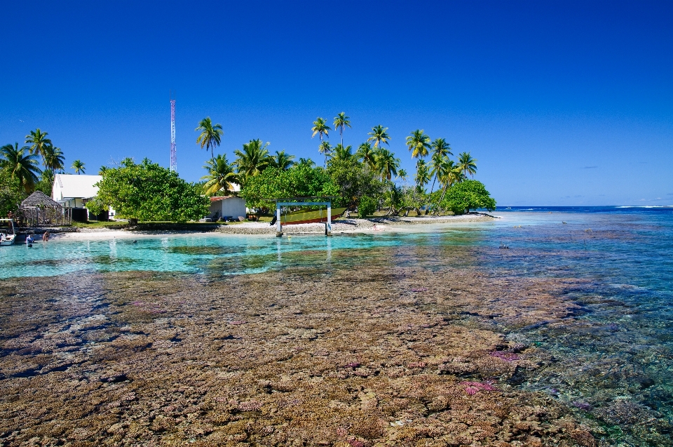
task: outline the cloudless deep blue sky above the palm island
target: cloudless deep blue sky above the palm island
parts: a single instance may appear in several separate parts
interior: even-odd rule
[[[87,173],[145,156],[178,171],[252,138],[320,163],[311,123],[377,124],[407,171],[422,128],[478,159],[499,205],[673,204],[673,2],[6,2],[0,144],[35,128]],[[36,26],[39,23],[39,26]],[[338,133],[330,134],[336,144]]]

